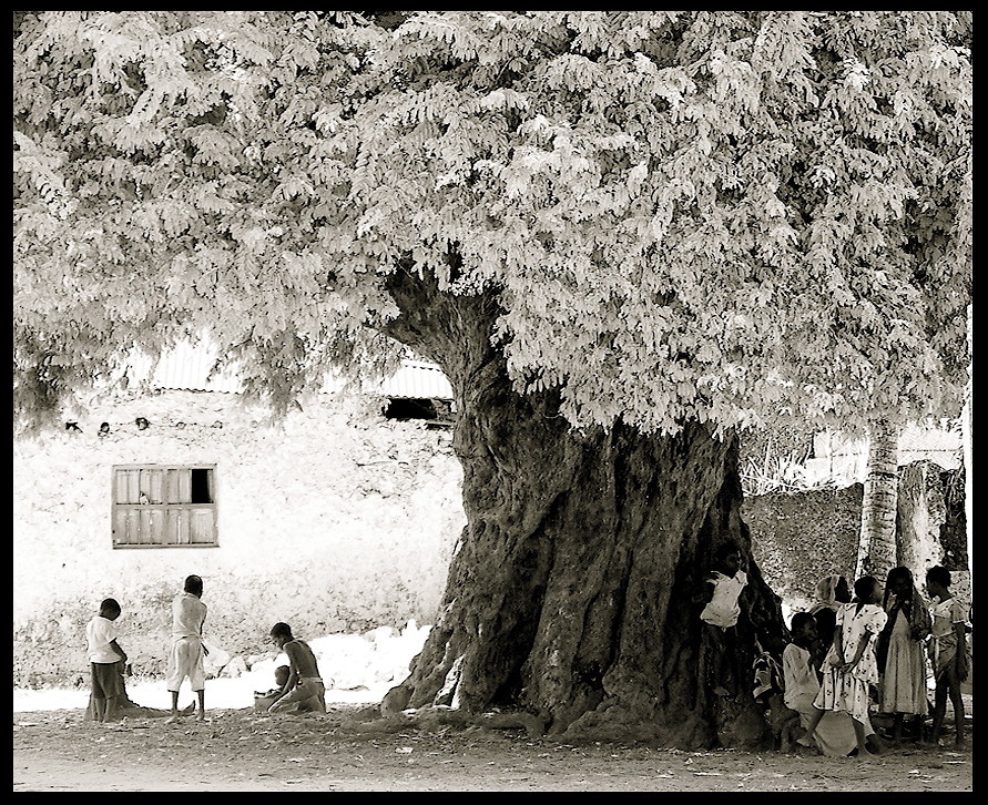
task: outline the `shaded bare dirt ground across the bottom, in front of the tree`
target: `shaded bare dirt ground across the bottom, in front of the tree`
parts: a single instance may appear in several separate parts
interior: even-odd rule
[[[905,743],[877,757],[571,745],[520,728],[387,727],[366,705],[325,715],[84,721],[14,713],[13,791],[970,792],[968,741]],[[953,713],[950,713],[953,717]],[[950,719],[948,719],[949,721]],[[806,751],[803,751],[806,752]]]

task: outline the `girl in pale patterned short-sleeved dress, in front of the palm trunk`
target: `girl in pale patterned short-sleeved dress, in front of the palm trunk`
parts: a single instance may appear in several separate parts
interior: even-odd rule
[[[823,683],[813,702],[814,712],[806,727],[813,738],[823,714],[847,712],[854,725],[858,757],[872,752],[865,742],[868,720],[868,686],[878,684],[875,645],[888,615],[882,609],[882,584],[873,575],[854,582],[855,599],[837,610],[834,643],[824,660]]]

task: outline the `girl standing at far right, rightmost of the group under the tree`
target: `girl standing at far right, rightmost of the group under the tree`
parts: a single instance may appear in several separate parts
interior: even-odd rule
[[[936,679],[936,691],[929,740],[935,744],[940,741],[940,727],[947,714],[949,695],[954,705],[954,742],[960,746],[964,744],[964,699],[960,696],[960,683],[967,679],[970,669],[964,605],[950,592],[950,571],[939,564],[926,571],[926,591],[930,599],[936,599],[930,607],[933,640],[929,642],[929,659]]]

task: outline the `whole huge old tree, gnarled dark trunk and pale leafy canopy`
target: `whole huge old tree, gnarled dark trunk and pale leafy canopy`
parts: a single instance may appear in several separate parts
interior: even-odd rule
[[[468,524],[389,705],[755,740],[696,594],[740,542],[736,660],[777,651],[737,434],[959,411],[971,26],[16,12],[18,421],[204,329],[275,411],[408,345]]]

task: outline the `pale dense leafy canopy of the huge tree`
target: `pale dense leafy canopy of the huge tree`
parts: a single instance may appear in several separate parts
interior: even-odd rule
[[[284,409],[387,278],[644,432],[959,410],[970,12],[16,12],[14,402],[207,328]]]

